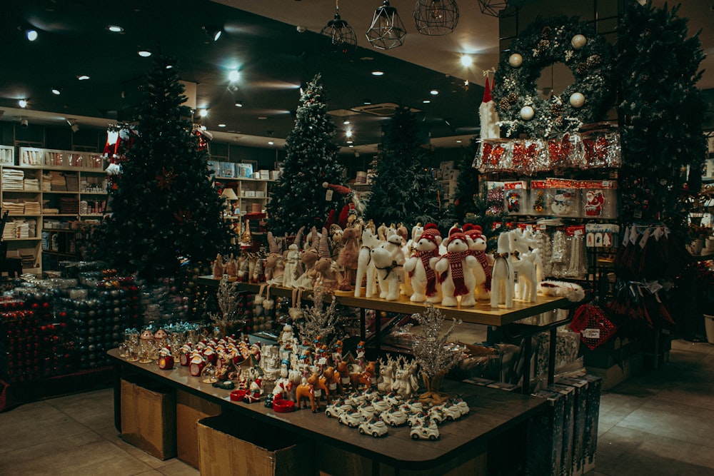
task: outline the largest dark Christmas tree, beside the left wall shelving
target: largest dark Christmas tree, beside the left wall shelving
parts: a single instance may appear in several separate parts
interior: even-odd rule
[[[206,148],[192,131],[191,111],[173,59],[157,56],[141,86],[134,144],[121,159],[102,226],[104,260],[154,280],[188,260],[207,261],[230,243],[223,203],[211,183]]]

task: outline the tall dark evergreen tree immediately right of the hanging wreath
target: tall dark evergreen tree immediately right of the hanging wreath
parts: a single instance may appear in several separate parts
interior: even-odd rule
[[[695,86],[704,53],[677,10],[629,2],[618,27],[620,193],[626,222],[663,221],[683,235],[686,197],[701,188],[706,105]]]

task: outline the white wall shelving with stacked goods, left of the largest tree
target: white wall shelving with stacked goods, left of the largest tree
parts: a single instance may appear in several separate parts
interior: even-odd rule
[[[14,148],[0,146],[0,203],[10,210],[3,240],[8,256],[24,258],[23,273],[41,275],[42,253],[58,261],[76,258],[69,222],[101,218],[106,172],[99,153],[31,147],[17,152],[15,158]],[[61,235],[68,236],[60,240],[64,246],[56,245]]]

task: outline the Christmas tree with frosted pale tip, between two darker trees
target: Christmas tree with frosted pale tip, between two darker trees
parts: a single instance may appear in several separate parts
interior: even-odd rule
[[[324,226],[335,202],[326,200],[323,183],[341,185],[343,181],[334,135],[318,74],[301,91],[295,127],[285,141],[283,175],[273,186],[267,207],[273,234],[293,233],[302,226],[308,230]]]

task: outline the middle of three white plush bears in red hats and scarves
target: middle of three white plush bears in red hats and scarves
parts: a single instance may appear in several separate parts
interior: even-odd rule
[[[476,304],[476,278],[472,271],[476,266],[476,258],[468,254],[468,241],[461,228],[452,228],[448,238],[442,242],[446,243],[446,254],[434,265],[434,270],[440,273],[442,305],[458,305],[457,296],[461,296],[462,307]]]

